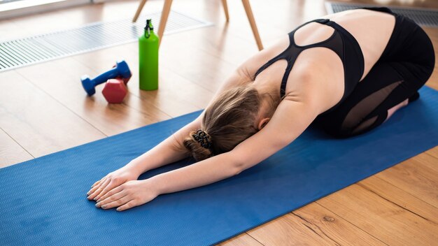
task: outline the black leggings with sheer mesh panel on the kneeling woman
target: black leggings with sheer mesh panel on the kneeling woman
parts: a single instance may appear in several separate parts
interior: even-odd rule
[[[376,128],[388,109],[417,99],[418,89],[430,78],[435,66],[430,38],[414,21],[392,14],[395,27],[379,61],[342,103],[316,119],[330,135],[346,138]]]

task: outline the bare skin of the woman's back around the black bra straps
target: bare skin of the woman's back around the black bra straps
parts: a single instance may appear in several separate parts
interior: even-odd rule
[[[362,78],[365,78],[365,75],[386,48],[394,29],[394,16],[374,10],[358,9],[334,13],[321,18],[336,22],[353,35],[360,46],[359,52],[361,51],[363,54],[364,71]],[[310,22],[295,31],[293,40],[299,46],[311,45],[326,41],[332,34],[334,34],[333,27],[318,22]],[[260,67],[286,50],[289,45],[289,37],[284,36],[278,43],[251,57],[242,65],[242,68],[246,70],[250,78],[255,78],[255,73]],[[351,56],[351,54],[346,55]],[[285,59],[275,61],[260,74],[257,74],[257,78],[261,78],[255,82],[267,83],[273,89],[278,88],[279,92],[281,80],[287,66],[288,61],[285,61]],[[362,64],[348,64],[348,66],[362,66]],[[306,49],[299,54],[292,66],[285,83],[285,92],[298,92],[303,88],[315,93],[318,90],[327,92],[324,93],[327,98],[320,98],[320,100],[327,105],[325,109],[331,108],[341,100],[344,89],[346,89],[344,88],[344,68],[346,68],[346,64],[339,59],[339,55],[333,50],[324,47]],[[313,87],[310,85],[309,88],[308,82],[306,82],[306,85],[300,82],[299,78],[302,77],[303,73],[311,73],[314,79],[319,82],[315,82]],[[318,78],[318,76],[320,77]]]

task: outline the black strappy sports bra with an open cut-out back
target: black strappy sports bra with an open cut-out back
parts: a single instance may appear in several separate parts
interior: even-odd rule
[[[297,45],[294,41],[295,31],[311,22],[327,24],[328,26],[333,27],[334,32],[332,36],[330,36],[330,38],[327,38],[325,41],[313,43],[311,45]],[[362,55],[362,50],[360,50],[360,46],[355,38],[348,31],[346,31],[346,29],[339,26],[339,24],[337,24],[336,22],[332,22],[328,19],[311,20],[310,22],[306,22],[297,27],[288,35],[290,41],[288,48],[286,48],[286,50],[269,60],[263,66],[261,66],[255,73],[254,79],[260,72],[262,72],[268,66],[271,66],[271,64],[273,64],[275,61],[285,59],[286,61],[288,61],[288,66],[286,67],[283,79],[281,80],[280,90],[281,97],[283,98],[283,96],[285,95],[286,82],[288,82],[289,73],[292,70],[292,66],[295,64],[299,53],[301,53],[303,50],[314,47],[329,48],[341,58],[341,61],[344,64],[345,90],[344,96],[342,96],[341,99],[341,101],[343,101],[344,98],[351,93],[355,85],[359,82],[360,78],[362,78],[362,74],[364,71],[364,59]],[[339,103],[341,101],[339,101]]]

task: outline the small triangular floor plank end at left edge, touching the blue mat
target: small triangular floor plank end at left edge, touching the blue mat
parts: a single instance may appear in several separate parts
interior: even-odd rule
[[[34,157],[0,129],[0,168],[30,159]]]

